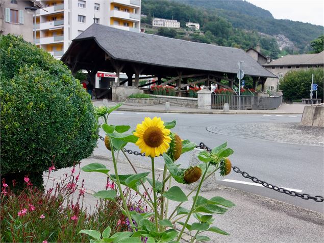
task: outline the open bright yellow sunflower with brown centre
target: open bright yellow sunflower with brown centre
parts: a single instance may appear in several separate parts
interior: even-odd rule
[[[170,130],[164,128],[161,118],[145,117],[142,124],[137,124],[134,135],[138,137],[135,143],[146,156],[159,156],[170,147]]]

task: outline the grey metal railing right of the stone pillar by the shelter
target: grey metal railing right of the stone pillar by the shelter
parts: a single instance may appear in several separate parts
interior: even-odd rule
[[[212,94],[211,109],[223,109],[225,103],[229,104],[230,110],[277,109],[282,103],[282,96]]]

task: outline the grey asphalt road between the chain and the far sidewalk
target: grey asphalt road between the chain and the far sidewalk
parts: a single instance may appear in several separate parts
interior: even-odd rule
[[[222,126],[226,124],[231,128],[231,126],[241,123],[299,123],[302,115],[166,114],[115,111],[109,116],[109,123],[130,125],[132,129],[135,129],[145,116],[160,116],[166,122],[176,119],[177,126],[172,129],[173,132],[177,132],[182,139],[189,139],[195,143],[204,142],[211,148],[228,141],[229,147],[234,150],[234,154],[231,156],[232,164],[251,176],[273,185],[308,193],[311,196],[324,196],[323,147],[259,139],[259,137],[264,137],[261,136],[263,131],[260,128],[252,128],[251,133],[255,136],[248,139],[233,134],[229,136],[212,133],[207,130],[207,128],[217,126],[217,124]],[[100,134],[104,135],[105,133],[101,131]],[[287,135],[298,136],[298,134]],[[134,144],[128,144],[126,148],[138,151]],[[94,154],[107,155],[103,142],[98,142],[98,148],[94,151]],[[148,158],[134,155],[130,158],[138,164],[149,165],[150,163]],[[178,162],[185,167],[188,165],[188,160],[189,155],[185,154]],[[156,167],[163,167],[161,158],[156,160]],[[324,203],[291,197],[265,187],[251,185],[251,182],[251,180],[234,172],[224,178],[217,177],[217,183],[221,185],[324,212]]]

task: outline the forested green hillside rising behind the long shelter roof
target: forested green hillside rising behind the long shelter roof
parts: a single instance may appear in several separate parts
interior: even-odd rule
[[[271,58],[292,51],[309,52],[310,42],[324,31],[323,27],[309,23],[275,19],[269,11],[242,0],[142,0],[141,8],[142,14],[147,15],[141,20],[144,24],[151,24],[153,17],[173,18],[184,28],[177,31],[152,30],[152,33],[242,49],[260,44],[261,53]],[[188,21],[200,23],[201,32],[186,29]],[[275,37],[287,42],[287,47],[281,52]]]

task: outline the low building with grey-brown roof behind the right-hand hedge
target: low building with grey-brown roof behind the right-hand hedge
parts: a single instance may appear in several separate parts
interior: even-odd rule
[[[324,51],[317,54],[287,55],[269,63],[262,64],[268,71],[278,76],[268,78],[265,82],[266,89],[277,90],[280,78],[291,70],[302,70],[308,68],[323,68]]]

